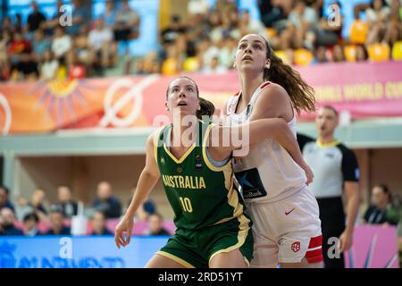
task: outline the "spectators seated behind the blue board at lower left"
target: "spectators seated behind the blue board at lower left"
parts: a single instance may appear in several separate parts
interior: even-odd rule
[[[78,214],[88,217],[87,235],[113,235],[114,226],[124,212],[121,201],[113,196],[112,186],[107,181],[97,185],[96,198],[91,206],[80,210],[79,203],[72,198],[71,188],[60,185],[56,189],[58,201],[49,205],[44,189],[35,189],[30,201],[19,196],[15,206],[10,202],[10,191],[0,186],[0,236],[1,235],[72,235],[71,219]],[[130,202],[129,202],[130,204]],[[127,205],[128,206],[128,205]],[[137,235],[171,235],[165,229],[163,216],[156,212],[152,200],[147,200],[136,214],[136,224],[142,223]]]

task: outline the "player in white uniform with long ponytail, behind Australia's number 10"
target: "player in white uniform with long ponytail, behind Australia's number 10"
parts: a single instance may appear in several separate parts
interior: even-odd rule
[[[314,111],[314,89],[258,35],[240,39],[235,67],[241,91],[226,105],[230,122],[283,118],[296,137],[293,108]],[[313,179],[308,165],[296,163],[277,141],[267,139],[233,159],[233,168],[255,223],[251,266],[321,267],[321,222],[306,186]]]

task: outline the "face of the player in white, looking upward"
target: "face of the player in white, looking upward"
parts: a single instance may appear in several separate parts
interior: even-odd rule
[[[236,52],[236,68],[239,71],[261,71],[270,68],[271,61],[266,58],[264,39],[255,34],[249,34],[240,39]]]

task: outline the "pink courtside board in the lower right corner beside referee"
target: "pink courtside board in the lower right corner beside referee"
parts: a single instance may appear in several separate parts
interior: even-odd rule
[[[353,246],[345,253],[348,268],[399,268],[397,229],[356,226]]]

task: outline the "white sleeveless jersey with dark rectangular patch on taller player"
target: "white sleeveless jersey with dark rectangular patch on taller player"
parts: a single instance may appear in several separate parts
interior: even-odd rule
[[[254,92],[247,108],[236,114],[240,93],[230,97],[227,114],[230,124],[238,125],[247,122],[253,111],[255,101],[264,88],[271,82],[265,81]],[[290,130],[296,137],[296,116],[288,122]],[[247,201],[279,201],[288,198],[306,186],[306,173],[293,160],[288,151],[274,139],[250,147],[245,157],[233,159],[233,170],[239,181],[243,198]]]

